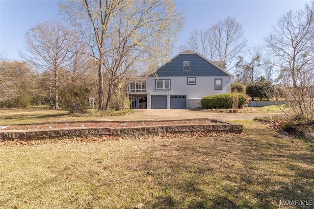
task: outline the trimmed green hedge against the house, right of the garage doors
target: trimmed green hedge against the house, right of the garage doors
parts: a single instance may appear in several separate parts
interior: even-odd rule
[[[246,97],[243,93],[237,93],[238,107],[246,104]],[[204,96],[201,100],[204,108],[232,108],[233,93],[224,93]]]

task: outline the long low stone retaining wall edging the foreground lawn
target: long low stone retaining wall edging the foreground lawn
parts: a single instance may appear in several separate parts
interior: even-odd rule
[[[165,135],[166,133],[183,132],[229,132],[242,133],[243,125],[236,125],[222,121],[210,125],[160,125],[143,127],[76,127],[51,128],[34,130],[0,130],[0,140],[31,140],[54,139],[62,137],[103,137],[103,136],[143,136]]]

